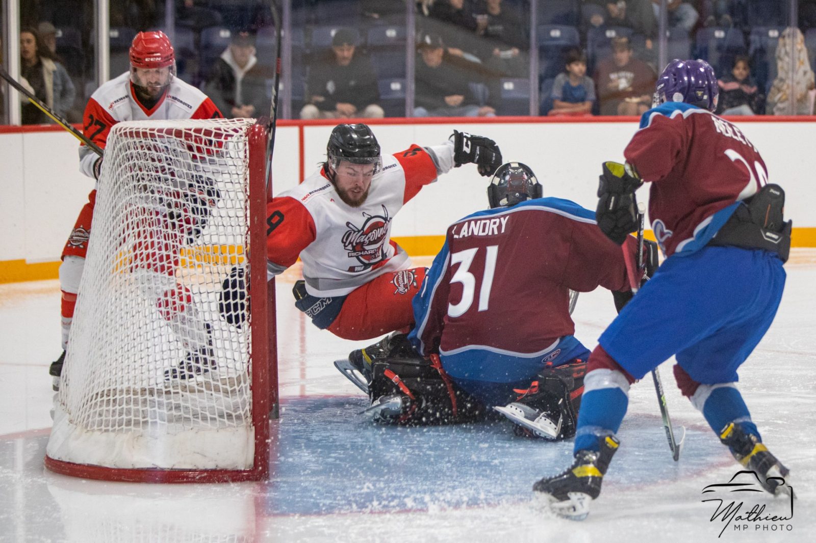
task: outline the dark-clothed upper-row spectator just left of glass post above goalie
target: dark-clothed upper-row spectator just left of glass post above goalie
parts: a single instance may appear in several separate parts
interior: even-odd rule
[[[481,30],[477,28],[483,39],[481,59],[503,77],[526,77],[530,70],[526,22],[517,11],[503,9],[502,0],[486,0],[483,20]]]

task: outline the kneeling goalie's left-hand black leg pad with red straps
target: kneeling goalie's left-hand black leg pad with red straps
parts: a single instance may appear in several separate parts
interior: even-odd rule
[[[417,356],[374,360],[372,373],[369,389],[372,404],[378,404],[384,396],[402,398],[401,413],[388,422],[430,426],[476,422],[486,416],[486,407],[456,386],[441,370],[438,359],[431,361]]]

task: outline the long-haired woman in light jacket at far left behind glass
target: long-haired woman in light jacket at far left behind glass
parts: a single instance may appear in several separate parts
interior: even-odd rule
[[[33,28],[20,30],[20,75],[29,82],[38,99],[60,117],[65,117],[73,105],[76,90],[68,72],[55,60]],[[23,105],[22,122],[36,125],[53,121],[29,102]]]

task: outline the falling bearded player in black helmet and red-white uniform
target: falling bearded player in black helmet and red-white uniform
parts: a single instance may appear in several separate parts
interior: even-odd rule
[[[425,268],[411,267],[392,241],[392,219],[425,185],[468,163],[493,174],[499,147],[454,130],[444,143],[382,155],[369,126],[335,126],[320,169],[267,205],[268,276],[299,257],[304,280],[295,284],[295,305],[339,338],[407,331]],[[233,324],[244,316],[243,281],[241,268],[224,281],[221,310]]]

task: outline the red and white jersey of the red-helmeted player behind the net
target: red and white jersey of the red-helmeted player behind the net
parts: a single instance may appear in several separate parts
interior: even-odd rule
[[[131,73],[111,79],[96,89],[85,108],[82,133],[100,148],[105,148],[113,125],[122,121],[166,121],[171,119],[214,119],[221,112],[212,100],[196,87],[173,77],[170,85],[151,109],[145,109],[135,98]],[[79,170],[94,177],[97,155],[86,145],[79,148]]]

